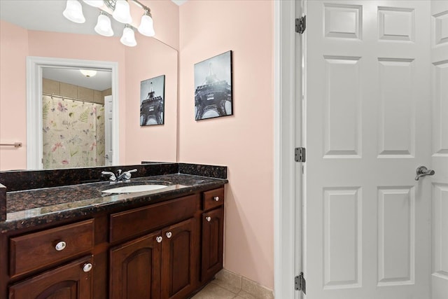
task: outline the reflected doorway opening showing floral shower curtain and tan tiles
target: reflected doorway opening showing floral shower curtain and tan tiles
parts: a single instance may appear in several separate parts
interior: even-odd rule
[[[44,67],[42,78],[43,169],[110,165],[111,71]]]

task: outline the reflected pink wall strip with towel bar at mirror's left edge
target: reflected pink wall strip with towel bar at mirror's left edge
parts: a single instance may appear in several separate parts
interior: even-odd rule
[[[1,146],[0,169],[27,168],[27,53],[28,31],[0,21],[0,143],[23,144]]]

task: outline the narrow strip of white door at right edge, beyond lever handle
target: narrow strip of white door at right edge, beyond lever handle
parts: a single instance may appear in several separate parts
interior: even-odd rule
[[[448,1],[431,1],[433,299],[448,298]]]

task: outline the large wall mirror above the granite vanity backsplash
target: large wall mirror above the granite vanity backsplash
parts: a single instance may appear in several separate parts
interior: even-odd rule
[[[146,2],[151,4],[151,1]],[[70,72],[78,72],[79,69],[104,71],[111,76],[111,87],[110,90],[109,88],[107,90],[109,90],[111,96],[110,104],[114,107],[112,111],[116,114],[113,114],[111,118],[107,118],[106,115],[103,116],[106,122],[108,119],[110,122],[110,132],[105,133],[111,137],[109,138],[110,151],[107,152],[106,146],[104,150],[100,149],[96,153],[98,157],[100,155],[106,157],[104,160],[97,158],[96,160],[100,161],[97,166],[139,164],[142,160],[176,162],[177,50],[167,43],[159,41],[157,35],[155,37],[142,36],[137,30],[135,32],[137,46],[132,48],[124,46],[120,43],[124,25],[115,20],[112,20],[114,36],[100,36],[94,32],[99,9],[88,6],[83,1],[80,1],[80,3],[83,6],[86,20],[84,24],[76,24],[64,18],[62,12],[65,9],[66,1],[0,1],[2,42],[6,41],[6,43],[11,42],[15,45],[24,46],[18,48],[18,51],[13,53],[14,57],[11,57],[18,63],[5,65],[4,68],[2,65],[2,71],[4,72],[2,74],[6,74],[6,72],[14,74],[19,70],[20,74],[15,75],[15,82],[20,81],[22,88],[19,91],[17,88],[13,90],[13,87],[9,88],[2,84],[1,106],[2,108],[10,106],[13,101],[12,98],[15,98],[14,101],[22,103],[18,106],[18,109],[15,109],[14,113],[17,113],[20,119],[26,119],[27,126],[34,130],[33,133],[29,133],[29,129],[25,127],[13,127],[13,129],[8,128],[8,132],[6,132],[5,128],[0,128],[2,144],[11,141],[20,141],[23,144],[22,148],[0,147],[0,170],[80,167],[80,165],[71,164],[71,160],[66,158],[52,158],[52,155],[48,155],[48,151],[53,149],[58,151],[58,148],[62,148],[62,146],[68,148],[69,146],[66,146],[66,144],[73,141],[73,138],[76,139],[78,135],[79,139],[82,139],[81,133],[87,134],[85,133],[87,129],[91,133],[93,128],[80,128],[81,133],[71,134],[70,139],[66,138],[67,133],[61,131],[60,134],[57,134],[58,132],[53,132],[53,137],[59,137],[60,142],[53,140],[50,141],[50,144],[45,144],[48,142],[43,141],[41,136],[45,134],[45,130],[48,131],[51,127],[48,123],[44,123],[42,119],[31,116],[32,109],[41,113],[42,118],[42,113],[49,113],[48,111],[52,111],[52,109],[55,109],[55,111],[62,109],[64,112],[74,113],[74,111],[69,111],[69,108],[78,108],[77,102],[73,103],[73,101],[76,101],[75,97],[63,92],[62,95],[56,95],[56,90],[50,88],[50,91],[48,91],[48,86],[44,87],[45,83],[50,82],[52,85],[68,84],[71,88],[76,86],[83,91],[90,89],[94,90],[93,92],[96,95],[98,92],[104,91],[98,90],[102,88],[88,88],[76,83],[76,81],[71,82],[70,79],[66,79]],[[163,11],[157,11],[157,13],[163,18]],[[139,20],[136,22],[139,22]],[[157,31],[156,24],[155,29]],[[7,32],[10,30],[14,30],[14,32]],[[3,51],[3,53],[5,52]],[[53,76],[48,75],[55,71],[59,71],[56,77],[54,74]],[[161,75],[166,76],[165,123],[163,125],[141,127],[139,125],[140,83],[148,78]],[[57,76],[61,80],[56,80]],[[55,86],[52,87],[55,88]],[[66,86],[64,88],[66,89]],[[104,96],[105,94],[102,95],[103,98]],[[36,97],[41,101],[38,104],[32,102],[35,101]],[[80,100],[79,104],[82,105],[83,97]],[[69,103],[70,101],[73,107],[64,105],[65,102]],[[25,104],[25,102],[27,103]],[[45,106],[45,103],[47,106]],[[91,105],[93,106],[93,104]],[[99,105],[98,107],[101,108],[103,104]],[[84,111],[80,113],[84,113]],[[88,114],[90,116],[90,113]],[[48,114],[45,118],[47,117]],[[75,120],[76,122],[80,122],[79,117]],[[70,122],[68,119],[61,120],[61,123],[69,127],[75,121]],[[104,127],[106,128],[108,125],[105,124]],[[85,143],[90,143],[90,148],[95,146],[92,141],[85,141]],[[104,143],[106,143],[106,140],[104,140]],[[35,146],[36,144],[37,146]],[[46,150],[43,150],[44,144],[47,146]],[[155,144],[158,146],[155,146]],[[90,148],[87,150],[80,149],[79,151],[88,151]],[[79,151],[76,152],[77,150],[74,148],[69,151],[71,151],[72,159],[79,154]],[[46,160],[44,154],[47,155]],[[48,157],[50,157],[50,160],[48,160]],[[93,157],[87,159],[95,160]],[[34,162],[30,162],[30,160],[34,160]],[[15,161],[17,161],[16,164]],[[94,165],[87,163],[86,166]]]

